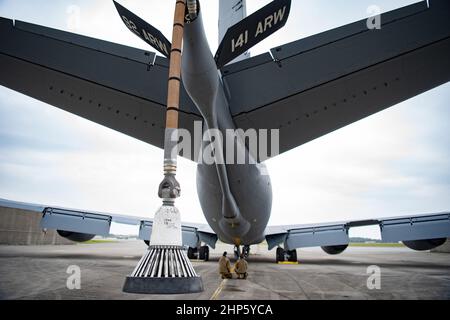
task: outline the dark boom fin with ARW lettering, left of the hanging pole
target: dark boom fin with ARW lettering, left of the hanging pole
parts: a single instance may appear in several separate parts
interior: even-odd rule
[[[133,12],[121,6],[116,1],[113,2],[120,17],[131,32],[158,50],[158,52],[161,52],[165,57],[170,57],[172,44],[159,30],[139,18]]]

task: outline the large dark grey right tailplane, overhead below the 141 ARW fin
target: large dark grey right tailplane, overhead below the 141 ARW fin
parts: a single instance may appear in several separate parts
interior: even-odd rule
[[[450,80],[450,2],[422,1],[224,67],[237,127],[279,129],[280,153]],[[260,161],[266,160],[259,158]]]

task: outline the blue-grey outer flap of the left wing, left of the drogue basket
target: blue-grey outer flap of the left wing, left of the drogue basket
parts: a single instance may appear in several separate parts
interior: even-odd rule
[[[46,208],[41,227],[85,234],[108,236],[111,216],[82,211]]]

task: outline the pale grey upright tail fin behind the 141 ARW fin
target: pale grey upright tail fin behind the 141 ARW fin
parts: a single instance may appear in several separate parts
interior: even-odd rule
[[[219,0],[219,43],[222,42],[228,28],[234,26],[246,17],[246,0]],[[245,52],[232,62],[244,60],[249,57],[250,53]]]

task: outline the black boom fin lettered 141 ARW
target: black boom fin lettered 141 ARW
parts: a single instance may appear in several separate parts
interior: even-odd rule
[[[217,67],[221,69],[284,27],[290,10],[291,0],[275,0],[229,28],[215,56]]]

